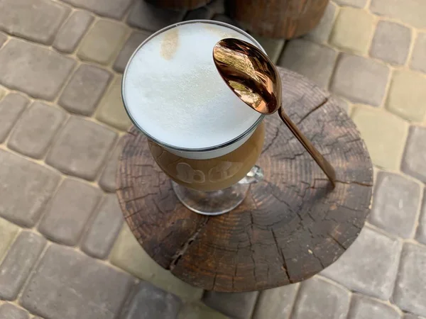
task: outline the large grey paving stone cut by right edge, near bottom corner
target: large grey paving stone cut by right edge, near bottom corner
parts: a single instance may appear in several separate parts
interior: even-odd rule
[[[393,302],[405,311],[426,315],[426,247],[406,243],[401,255]]]

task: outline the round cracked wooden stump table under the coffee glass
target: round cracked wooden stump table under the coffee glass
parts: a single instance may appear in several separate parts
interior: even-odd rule
[[[285,111],[337,172],[335,189],[280,121],[266,117],[265,179],[230,213],[185,208],[131,128],[117,173],[126,222],[161,267],[202,289],[241,292],[310,278],[356,239],[370,209],[373,169],[356,126],[329,96],[279,68]]]

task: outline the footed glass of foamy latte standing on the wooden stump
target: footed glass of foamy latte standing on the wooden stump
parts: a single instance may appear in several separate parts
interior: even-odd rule
[[[138,47],[122,87],[129,117],[147,136],[180,201],[209,215],[238,206],[249,184],[262,177],[255,164],[263,147],[263,115],[247,107],[217,72],[212,50],[223,38],[261,48],[226,23],[178,23]]]

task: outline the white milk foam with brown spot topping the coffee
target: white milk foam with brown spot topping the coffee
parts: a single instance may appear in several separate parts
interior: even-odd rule
[[[124,78],[124,101],[148,135],[173,147],[206,148],[243,134],[260,114],[246,106],[214,66],[223,38],[253,43],[236,30],[189,23],[151,38],[133,55]]]

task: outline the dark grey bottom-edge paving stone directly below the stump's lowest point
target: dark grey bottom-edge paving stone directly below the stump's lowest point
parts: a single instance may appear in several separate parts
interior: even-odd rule
[[[246,293],[205,291],[202,301],[210,308],[231,318],[246,319],[251,318],[257,297],[258,291]]]

